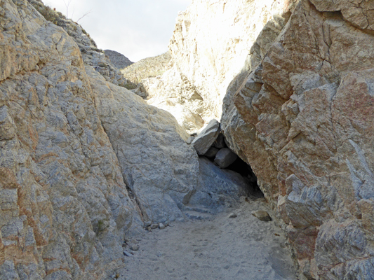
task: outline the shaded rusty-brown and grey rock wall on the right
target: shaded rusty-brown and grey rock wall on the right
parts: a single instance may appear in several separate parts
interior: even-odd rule
[[[222,120],[309,279],[373,272],[373,7],[360,5],[300,1]]]

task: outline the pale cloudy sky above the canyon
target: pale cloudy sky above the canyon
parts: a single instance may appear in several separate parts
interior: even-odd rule
[[[192,0],[43,0],[81,25],[102,50],[132,62],[168,50],[179,11]],[[68,5],[68,8],[66,7]]]

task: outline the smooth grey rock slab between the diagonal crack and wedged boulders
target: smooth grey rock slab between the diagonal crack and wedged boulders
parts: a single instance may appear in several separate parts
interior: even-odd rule
[[[177,204],[194,190],[199,162],[187,132],[170,113],[100,78],[87,66],[102,126],[121,165],[123,180],[145,221],[181,219]]]

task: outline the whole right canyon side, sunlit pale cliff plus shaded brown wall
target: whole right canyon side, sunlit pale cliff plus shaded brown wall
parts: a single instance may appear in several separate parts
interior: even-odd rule
[[[195,0],[173,68],[147,86],[221,118],[307,279],[374,275],[373,13],[373,1]]]

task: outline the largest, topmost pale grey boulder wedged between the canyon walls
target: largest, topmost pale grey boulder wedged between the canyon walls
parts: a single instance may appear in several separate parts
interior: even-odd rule
[[[211,148],[219,133],[220,123],[218,123],[218,120],[211,120],[194,141],[192,141],[192,146],[194,146],[197,154],[205,154]]]

